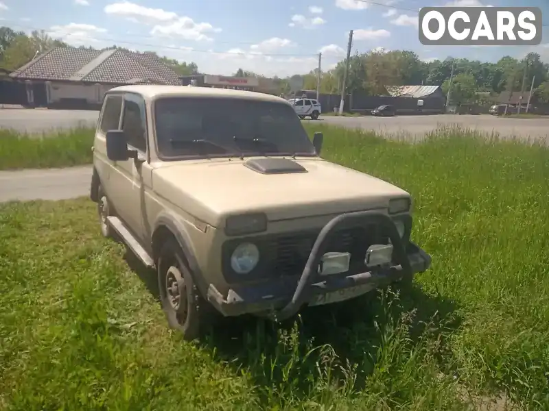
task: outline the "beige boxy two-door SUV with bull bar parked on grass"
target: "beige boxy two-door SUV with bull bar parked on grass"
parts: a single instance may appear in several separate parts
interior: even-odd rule
[[[429,268],[410,242],[410,195],[323,160],[322,142],[279,97],[107,92],[90,197],[102,234],[156,269],[167,321],[185,338],[216,314],[281,321]]]

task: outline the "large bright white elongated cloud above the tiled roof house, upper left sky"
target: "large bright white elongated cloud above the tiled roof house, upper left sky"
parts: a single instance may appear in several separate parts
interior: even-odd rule
[[[129,1],[106,5],[104,12],[135,23],[153,25],[150,34],[155,36],[170,36],[185,40],[212,40],[208,34],[221,32],[220,28],[213,27],[210,23],[195,23],[190,17],[179,16],[175,12],[167,12],[159,8],[143,7]]]

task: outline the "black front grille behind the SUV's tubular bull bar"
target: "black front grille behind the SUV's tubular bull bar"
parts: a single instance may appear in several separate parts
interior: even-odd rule
[[[319,232],[308,234],[283,235],[266,242],[263,255],[270,259],[272,275],[299,275],[305,269],[307,258]],[[383,240],[379,237],[379,229],[375,225],[357,227],[334,232],[329,238],[327,251],[351,253],[351,273],[364,269],[366,250],[372,244]]]

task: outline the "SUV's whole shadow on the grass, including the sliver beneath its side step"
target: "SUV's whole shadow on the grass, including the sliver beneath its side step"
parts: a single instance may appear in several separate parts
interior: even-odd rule
[[[158,299],[154,271],[130,251],[124,258]],[[197,344],[235,375],[246,373],[268,404],[273,397],[305,400],[319,386],[333,390],[334,384],[348,396],[362,390],[380,367],[396,370],[417,361],[420,368],[423,353],[444,364],[445,338],[460,324],[453,301],[427,295],[414,283],[304,308],[281,324],[255,316],[221,318]]]

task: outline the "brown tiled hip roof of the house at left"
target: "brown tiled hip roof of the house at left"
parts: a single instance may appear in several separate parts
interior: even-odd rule
[[[19,79],[69,80],[91,83],[179,85],[176,73],[152,53],[56,47],[11,74]]]

